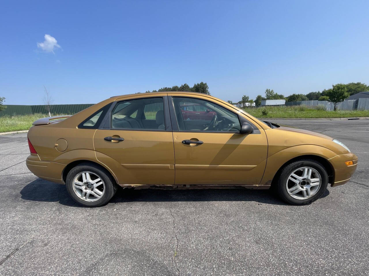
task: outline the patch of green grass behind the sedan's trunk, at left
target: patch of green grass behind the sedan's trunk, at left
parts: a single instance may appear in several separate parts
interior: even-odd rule
[[[1,116],[0,132],[29,130],[34,121],[44,117],[47,116],[45,114]]]

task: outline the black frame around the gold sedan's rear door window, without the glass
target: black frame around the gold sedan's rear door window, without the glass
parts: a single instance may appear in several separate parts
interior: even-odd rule
[[[150,98],[162,98],[163,99],[163,109],[164,109],[164,125],[165,125],[165,129],[164,130],[159,130],[159,129],[155,129],[155,128],[112,128],[112,122],[111,122],[111,118],[112,118],[112,113],[114,110],[114,107],[120,103],[120,102],[124,102],[126,100],[139,100],[139,99],[150,99]],[[169,107],[168,107],[168,96],[149,96],[149,97],[142,97],[142,98],[131,98],[131,99],[121,99],[118,101],[113,102],[113,105],[111,105],[110,110],[108,111],[108,113],[106,113],[106,118],[104,121],[104,125],[103,127],[99,128],[99,129],[104,129],[104,130],[124,130],[124,131],[170,131],[172,132],[172,126],[170,124],[170,116],[169,116]],[[142,109],[142,112],[144,112],[144,110]]]

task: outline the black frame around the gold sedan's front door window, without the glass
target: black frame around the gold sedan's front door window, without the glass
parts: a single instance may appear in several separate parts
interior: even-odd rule
[[[240,131],[220,131],[220,130],[214,130],[214,131],[203,131],[203,130],[179,130],[179,126],[178,126],[178,121],[177,121],[177,116],[174,110],[174,103],[173,103],[173,99],[172,98],[192,98],[192,99],[200,99],[200,100],[204,100],[207,102],[211,102],[214,103],[215,105],[219,105],[218,103],[215,103],[211,100],[205,100],[205,99],[201,99],[201,98],[196,98],[196,97],[190,97],[190,96],[168,96],[168,101],[169,101],[169,112],[170,112],[170,120],[172,123],[172,128],[173,128],[173,132],[197,132],[197,133],[236,133],[236,134],[240,134]],[[251,123],[249,120],[247,120],[246,118],[240,116],[239,114],[237,114],[236,112],[230,110],[229,108],[223,106],[223,105],[219,105],[221,107],[223,107],[224,109],[227,109],[229,112],[234,113],[235,115],[237,115],[238,121],[240,126],[242,126],[242,123],[249,123],[251,124],[252,128],[254,129],[254,131],[252,131],[252,133],[250,134],[261,134],[260,130],[253,124]]]

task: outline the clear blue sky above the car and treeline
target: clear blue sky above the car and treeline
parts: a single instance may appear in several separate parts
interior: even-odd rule
[[[55,104],[97,103],[204,81],[238,101],[266,88],[368,84],[368,10],[337,0],[3,1],[0,96],[42,104],[45,85]],[[38,46],[45,34],[57,42]]]

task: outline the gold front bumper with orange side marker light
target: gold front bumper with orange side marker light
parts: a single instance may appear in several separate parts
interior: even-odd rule
[[[345,161],[353,161],[354,164],[351,166],[346,166]],[[329,159],[329,162],[331,162],[334,168],[334,182],[331,184],[331,187],[336,187],[338,185],[345,184],[350,180],[356,170],[358,157],[351,152],[347,154],[336,155]]]

